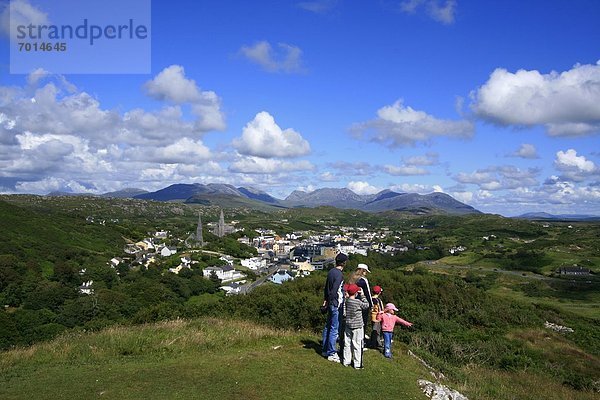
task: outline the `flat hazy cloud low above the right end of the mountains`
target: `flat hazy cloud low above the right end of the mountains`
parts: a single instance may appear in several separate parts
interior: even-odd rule
[[[463,184],[479,186],[482,190],[497,191],[534,186],[538,184],[540,170],[528,168],[522,170],[514,166],[494,166],[472,173],[458,173],[454,180]]]

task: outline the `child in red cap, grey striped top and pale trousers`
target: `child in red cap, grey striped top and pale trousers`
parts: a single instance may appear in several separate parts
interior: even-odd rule
[[[347,367],[351,362],[354,362],[354,368],[361,369],[362,352],[363,352],[363,337],[364,323],[362,319],[363,310],[369,309],[369,302],[365,296],[360,296],[360,300],[356,298],[356,294],[360,294],[362,289],[358,285],[352,283],[346,287],[348,298],[344,302],[346,315],[346,327],[344,329],[344,366]]]

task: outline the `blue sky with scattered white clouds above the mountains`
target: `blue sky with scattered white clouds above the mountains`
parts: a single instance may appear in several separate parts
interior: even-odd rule
[[[598,1],[154,0],[149,74],[29,75],[9,73],[7,5],[0,192],[221,182],[600,215]]]

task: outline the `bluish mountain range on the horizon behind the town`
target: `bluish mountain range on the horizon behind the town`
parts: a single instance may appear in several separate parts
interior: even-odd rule
[[[295,190],[285,199],[277,199],[254,188],[235,187],[227,184],[174,184],[155,192],[132,196],[137,199],[156,201],[183,201],[186,203],[223,205],[261,205],[273,207],[320,207],[357,209],[370,212],[405,211],[413,214],[448,213],[473,214],[476,209],[445,193],[421,195],[383,190],[377,194],[359,195],[347,188],[322,188],[312,192]]]

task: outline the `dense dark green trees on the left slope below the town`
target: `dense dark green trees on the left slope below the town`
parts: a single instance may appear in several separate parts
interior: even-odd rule
[[[121,272],[103,265],[81,274],[75,265],[61,262],[46,277],[34,262],[23,264],[14,256],[0,255],[0,349],[50,339],[69,328],[98,329],[169,317],[193,296],[217,293],[220,285],[199,268],[179,275],[163,266]],[[94,281],[89,295],[79,292],[87,280]]]

